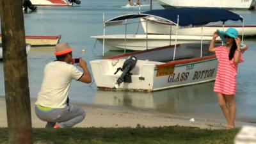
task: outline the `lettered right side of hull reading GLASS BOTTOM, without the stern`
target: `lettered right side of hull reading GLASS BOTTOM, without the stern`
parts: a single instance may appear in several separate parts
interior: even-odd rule
[[[184,61],[184,63],[180,63],[179,65],[166,64],[162,67],[174,67],[173,74],[157,77],[159,68],[156,68],[154,71],[154,86],[152,91],[214,81],[217,65],[218,61],[216,58],[207,58],[206,60],[196,60],[195,62],[188,63]]]

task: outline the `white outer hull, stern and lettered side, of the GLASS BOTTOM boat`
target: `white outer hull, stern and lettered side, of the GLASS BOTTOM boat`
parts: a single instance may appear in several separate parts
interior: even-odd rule
[[[115,90],[118,77],[121,74],[104,74],[102,63],[115,63],[116,60],[95,60],[90,61],[95,83],[100,90]],[[125,60],[119,60],[120,66]],[[117,87],[118,90],[132,90],[138,92],[153,92],[179,86],[205,83],[214,81],[216,77],[217,60],[207,58],[206,60],[196,60],[194,62],[184,61],[180,64],[157,63],[156,61],[138,61],[141,71],[136,74],[132,71],[132,83],[122,83]],[[161,65],[166,68],[161,73]],[[118,65],[119,66],[119,65]],[[100,68],[100,70],[99,70]],[[115,68],[114,68],[115,69]],[[116,69],[115,69],[116,70]],[[165,73],[165,74],[164,74]]]

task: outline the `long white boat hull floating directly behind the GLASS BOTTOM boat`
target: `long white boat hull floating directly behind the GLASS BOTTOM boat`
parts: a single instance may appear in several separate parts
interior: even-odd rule
[[[124,49],[129,51],[143,51],[175,44],[175,35],[100,35],[91,37],[96,38],[101,44],[103,44],[104,40],[104,45],[109,51],[120,51]],[[176,44],[201,42],[201,40],[204,42],[210,41],[212,40],[212,36],[178,35]]]

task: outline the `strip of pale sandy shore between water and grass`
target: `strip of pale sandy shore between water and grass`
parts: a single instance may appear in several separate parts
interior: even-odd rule
[[[31,100],[32,127],[43,128],[46,122],[36,117],[34,107],[35,99]],[[106,108],[93,104],[79,104],[86,111],[83,122],[74,127],[161,127],[161,126],[186,126],[199,127],[200,129],[223,129],[225,120],[213,120],[208,118],[195,118],[195,122],[189,122],[186,116],[177,116],[167,113],[157,113],[144,110]],[[4,96],[0,96],[0,127],[7,127],[6,105]],[[236,127],[242,125],[255,125],[252,123],[236,122]]]

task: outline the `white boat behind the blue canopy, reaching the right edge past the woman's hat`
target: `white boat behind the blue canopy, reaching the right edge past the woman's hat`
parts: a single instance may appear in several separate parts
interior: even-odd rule
[[[172,31],[171,29],[176,29],[175,25],[170,24],[170,22],[167,22],[166,20],[157,20],[151,18],[146,20],[145,18],[141,18],[141,24],[143,26],[144,32],[150,35],[170,35],[170,32]],[[238,35],[256,35],[256,25],[245,25],[244,27],[241,25],[211,25],[203,27],[186,26],[180,27],[178,29],[178,33],[179,35],[212,36],[216,29],[226,31],[228,28],[236,28]],[[172,31],[171,35],[175,35],[175,31]]]

